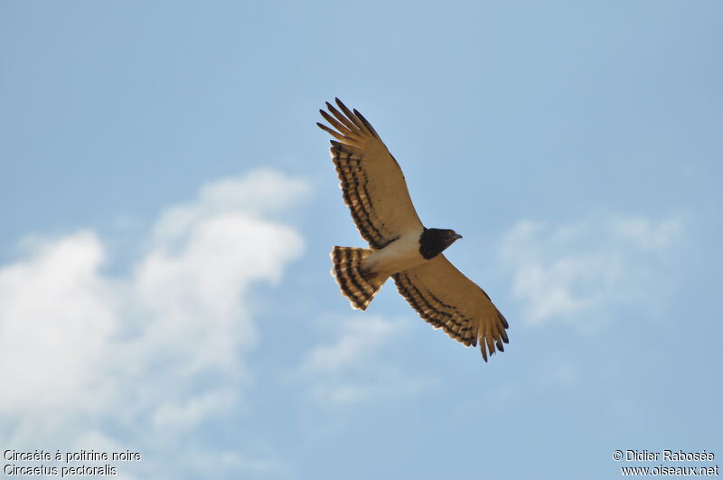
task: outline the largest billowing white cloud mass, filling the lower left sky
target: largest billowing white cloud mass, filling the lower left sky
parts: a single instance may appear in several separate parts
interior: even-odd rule
[[[0,266],[1,443],[113,444],[122,429],[174,456],[175,434],[237,406],[258,341],[249,286],[300,256],[298,232],[273,219],[306,190],[272,171],[206,184],[160,216],[122,277],[93,231],[26,242]]]

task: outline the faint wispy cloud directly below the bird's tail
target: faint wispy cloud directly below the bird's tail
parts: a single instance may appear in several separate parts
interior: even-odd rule
[[[333,341],[309,350],[297,372],[316,403],[342,407],[414,393],[429,384],[429,379],[402,372],[384,355],[387,346],[402,341],[408,329],[404,321],[365,315],[337,318],[333,325]]]

